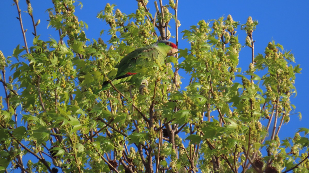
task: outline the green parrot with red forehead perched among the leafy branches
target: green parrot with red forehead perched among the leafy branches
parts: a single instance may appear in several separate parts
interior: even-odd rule
[[[149,67],[149,62],[155,62],[159,66],[162,66],[167,56],[175,56],[177,51],[176,44],[167,40],[158,40],[148,46],[141,47],[127,54],[120,62],[115,66],[117,68],[117,74],[112,79],[112,84],[129,81],[134,74],[145,73]],[[144,68],[142,70],[142,68]],[[99,94],[101,91],[107,90],[111,85],[108,81],[103,82],[102,89],[96,91],[95,94]]]

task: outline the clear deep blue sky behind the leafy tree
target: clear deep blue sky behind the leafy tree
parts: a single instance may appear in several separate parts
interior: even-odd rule
[[[37,26],[37,33],[41,35],[40,39],[48,40],[53,37],[59,39],[58,33],[48,25],[48,13],[46,9],[52,8],[51,1],[32,0],[33,15],[35,20],[40,19],[41,23]],[[87,38],[102,39],[106,42],[110,36],[100,36],[102,29],[107,30],[108,26],[102,20],[96,18],[99,11],[104,10],[106,2],[115,3],[121,12],[125,14],[135,13],[137,2],[135,0],[124,1],[102,1],[91,0],[82,1],[83,9],[76,8],[75,15],[79,20],[86,22],[89,26],[85,31]],[[18,16],[16,6],[11,6],[13,0],[3,1],[0,6],[0,50],[7,57],[13,53],[13,49],[18,45],[24,45],[19,21],[16,19]],[[163,0],[163,4],[168,4],[167,0]],[[22,11],[27,10],[25,1],[19,2]],[[149,2],[147,5],[150,12],[154,14],[155,8],[153,3]],[[179,1],[178,18],[181,22],[180,31],[189,29],[190,26],[196,25],[199,20],[204,19],[206,22],[210,19],[218,19],[222,16],[226,17],[231,14],[234,21],[240,21],[244,24],[248,16],[252,16],[254,20],[258,20],[259,25],[256,31],[253,32],[253,39],[255,42],[255,54],[263,54],[268,42],[275,40],[280,43],[286,50],[292,50],[295,56],[296,64],[300,64],[302,74],[296,75],[295,86],[298,92],[297,97],[291,98],[292,104],[296,106],[296,112],[302,112],[302,121],[299,121],[297,114],[291,115],[290,123],[285,124],[281,128],[280,138],[293,137],[294,133],[299,127],[309,128],[309,117],[307,115],[307,106],[309,94],[307,91],[309,69],[307,64],[307,45],[309,41],[309,1]],[[26,32],[28,46],[32,45],[33,31],[31,18],[27,13],[22,12],[22,19],[24,28],[28,29]],[[171,25],[173,26],[173,25]],[[240,27],[240,26],[239,26]],[[173,28],[171,29],[173,30]],[[173,34],[173,32],[172,32]],[[245,32],[240,28],[237,30],[239,40],[242,45],[245,43]],[[180,33],[180,38],[182,34]],[[175,42],[175,39],[171,39]],[[190,44],[185,40],[180,40],[179,48],[189,48]],[[249,47],[242,48],[239,56],[239,66],[242,71],[246,70],[251,61],[251,49]],[[294,65],[296,65],[294,64]],[[187,78],[182,79],[185,83]],[[184,89],[184,87],[182,88]],[[1,85],[0,95],[4,95],[4,90]]]

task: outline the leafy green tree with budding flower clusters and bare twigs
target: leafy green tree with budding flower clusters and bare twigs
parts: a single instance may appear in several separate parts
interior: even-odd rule
[[[162,67],[147,69],[141,85],[114,86],[109,78],[129,52],[171,38],[171,30],[178,45],[177,0],[165,6],[155,2],[155,14],[147,0],[138,1],[135,14],[107,3],[97,17],[110,26],[107,33],[102,30],[111,36],[108,44],[86,37],[87,24],[74,15],[78,3],[72,0],[52,1],[49,25],[59,31],[54,36],[59,40],[40,40],[40,20],[34,22],[27,0],[33,46],[27,45],[19,2],[14,2],[25,44],[12,56],[0,52],[2,171],[307,172],[308,138],[299,133],[278,137],[294,109],[290,97],[301,69],[275,42],[263,54],[254,52],[258,22],[251,17],[245,24],[231,15],[201,20],[181,31],[190,48],[167,57]],[[252,62],[243,72],[237,66],[239,27],[252,49]],[[7,78],[8,70],[13,73]],[[180,70],[190,76],[182,90]],[[93,94],[105,81],[112,88]],[[309,129],[298,132],[306,135]]]

